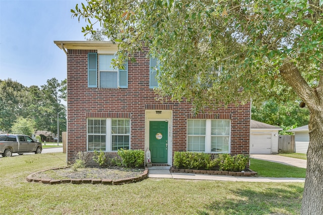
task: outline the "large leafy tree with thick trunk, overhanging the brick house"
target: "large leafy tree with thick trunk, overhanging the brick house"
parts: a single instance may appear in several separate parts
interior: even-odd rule
[[[297,95],[310,112],[301,213],[323,214],[322,4],[88,0],[71,12],[89,23],[84,32],[93,32],[99,23],[120,44],[117,64],[148,47],[161,65],[159,99],[185,97],[199,111],[237,99]]]

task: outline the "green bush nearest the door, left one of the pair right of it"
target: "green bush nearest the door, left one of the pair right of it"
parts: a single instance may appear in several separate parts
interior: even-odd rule
[[[184,169],[210,168],[210,155],[205,153],[175,152],[174,167]]]

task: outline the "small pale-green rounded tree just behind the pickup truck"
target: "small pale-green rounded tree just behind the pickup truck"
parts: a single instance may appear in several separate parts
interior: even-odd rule
[[[36,131],[35,121],[33,119],[19,117],[12,125],[11,131],[15,134],[25,134],[31,136],[31,134],[35,133]]]

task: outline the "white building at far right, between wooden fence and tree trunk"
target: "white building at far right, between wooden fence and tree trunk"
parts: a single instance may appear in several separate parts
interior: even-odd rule
[[[308,125],[288,130],[295,133],[295,152],[306,154],[309,144]]]

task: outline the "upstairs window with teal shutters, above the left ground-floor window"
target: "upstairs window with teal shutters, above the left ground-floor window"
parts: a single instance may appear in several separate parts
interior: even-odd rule
[[[88,53],[88,87],[128,88],[128,62],[124,68],[114,68],[112,54]]]

